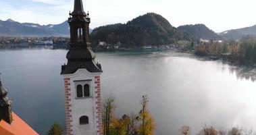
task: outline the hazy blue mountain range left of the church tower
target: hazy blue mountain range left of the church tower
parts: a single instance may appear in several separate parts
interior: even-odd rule
[[[0,36],[70,36],[70,26],[61,24],[40,25],[20,23],[14,20],[0,20]]]

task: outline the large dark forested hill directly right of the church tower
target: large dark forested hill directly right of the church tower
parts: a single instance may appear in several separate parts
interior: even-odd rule
[[[190,38],[192,36],[173,27],[168,20],[154,13],[139,16],[126,24],[101,26],[91,33],[92,45],[105,41],[107,44],[120,42],[126,47],[167,45]]]

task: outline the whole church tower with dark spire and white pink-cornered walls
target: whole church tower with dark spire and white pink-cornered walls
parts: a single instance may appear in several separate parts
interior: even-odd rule
[[[70,46],[61,66],[65,84],[67,135],[101,135],[101,65],[89,41],[89,14],[82,0],[74,0],[70,13]]]

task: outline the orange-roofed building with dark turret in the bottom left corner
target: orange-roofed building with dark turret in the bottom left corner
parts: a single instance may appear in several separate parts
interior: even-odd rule
[[[7,90],[0,80],[0,134],[38,135],[26,122],[11,111],[11,101],[6,97]]]

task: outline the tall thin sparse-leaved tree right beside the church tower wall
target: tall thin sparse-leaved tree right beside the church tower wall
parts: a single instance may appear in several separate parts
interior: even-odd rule
[[[109,135],[111,119],[113,118],[113,111],[115,109],[115,98],[113,96],[106,97],[103,101],[103,135]]]

